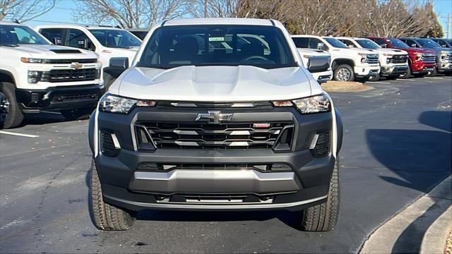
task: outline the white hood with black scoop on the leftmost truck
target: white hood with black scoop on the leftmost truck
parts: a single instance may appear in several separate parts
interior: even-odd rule
[[[57,45],[19,44],[11,47],[18,56],[37,59],[97,59],[95,52]]]

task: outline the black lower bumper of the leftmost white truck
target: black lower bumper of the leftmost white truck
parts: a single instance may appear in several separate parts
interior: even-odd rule
[[[104,91],[99,85],[49,87],[46,90],[16,89],[17,101],[25,113],[92,108]]]

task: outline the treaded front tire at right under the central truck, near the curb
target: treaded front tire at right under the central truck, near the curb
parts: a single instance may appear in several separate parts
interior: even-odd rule
[[[336,160],[333,176],[326,202],[314,205],[302,211],[302,230],[304,231],[330,231],[334,229],[339,217],[340,176]]]

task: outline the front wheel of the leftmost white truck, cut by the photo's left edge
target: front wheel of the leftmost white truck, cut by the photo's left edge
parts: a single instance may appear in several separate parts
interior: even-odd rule
[[[23,121],[12,83],[0,83],[0,129],[14,128]]]

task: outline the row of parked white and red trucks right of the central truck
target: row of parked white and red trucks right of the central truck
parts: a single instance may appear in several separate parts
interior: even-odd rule
[[[423,77],[436,73],[452,72],[451,40],[429,38],[386,38],[386,37],[319,37],[314,35],[293,35],[303,59],[316,53],[330,57],[331,78],[340,81],[377,81],[386,79]],[[310,51],[310,52],[309,52]],[[315,53],[314,53],[315,52]],[[323,78],[327,70],[310,70],[315,77]],[[328,80],[328,79],[327,79]]]

